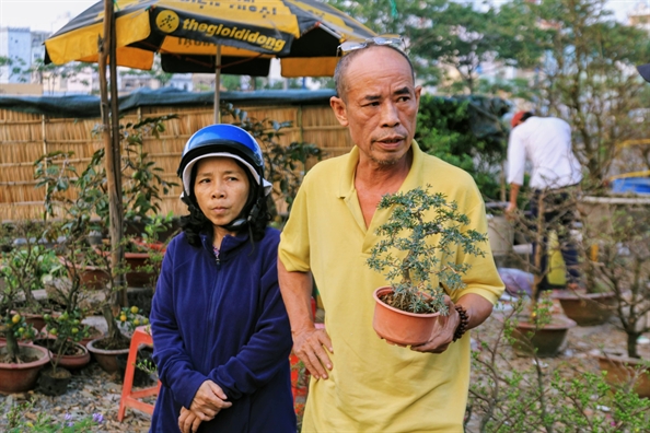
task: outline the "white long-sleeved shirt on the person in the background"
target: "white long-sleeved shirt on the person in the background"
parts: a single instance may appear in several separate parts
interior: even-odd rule
[[[508,183],[523,185],[525,163],[532,164],[531,188],[557,189],[582,180],[571,150],[571,127],[557,117],[530,117],[510,132]]]

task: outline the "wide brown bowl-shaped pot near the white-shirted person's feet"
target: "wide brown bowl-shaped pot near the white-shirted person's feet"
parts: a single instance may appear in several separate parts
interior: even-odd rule
[[[566,291],[562,291],[566,292]],[[616,304],[614,293],[559,293],[556,295],[565,314],[578,326],[603,325],[612,317]]]

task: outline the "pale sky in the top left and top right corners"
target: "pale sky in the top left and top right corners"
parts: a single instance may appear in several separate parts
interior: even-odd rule
[[[54,33],[96,2],[97,0],[0,0],[0,26],[30,27],[33,31]],[[607,3],[617,20],[627,21],[627,13],[639,2],[650,7],[650,0],[610,0]]]

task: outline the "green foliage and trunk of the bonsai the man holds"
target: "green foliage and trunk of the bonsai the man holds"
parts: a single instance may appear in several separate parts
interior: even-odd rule
[[[384,238],[372,247],[367,262],[378,272],[386,270],[393,288],[385,300],[388,305],[413,313],[448,314],[443,288],[462,289],[462,276],[469,269],[468,264],[454,261],[452,246],[483,256],[476,244],[486,242],[487,236],[464,230],[469,224],[467,215],[444,195],[429,194],[430,187],[382,198],[378,210],[392,208],[392,214],[378,229],[376,234]]]

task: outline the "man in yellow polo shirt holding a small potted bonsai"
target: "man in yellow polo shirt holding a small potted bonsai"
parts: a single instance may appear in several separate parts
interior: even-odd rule
[[[406,55],[388,43],[375,38],[344,49],[330,105],[356,147],[305,176],[281,235],[278,277],[293,350],[315,379],[303,432],[462,432],[469,336],[452,342],[460,324],[454,305],[474,328],[503,290],[489,247],[480,245],[486,255],[465,257],[472,265],[467,286],[448,300],[439,335],[407,349],[387,344],[372,329],[372,292],[386,281],[365,260],[387,219],[386,211],[375,213],[383,195],[430,184],[459,202],[473,229],[487,232],[472,177],[423,154],[414,141],[421,87]],[[326,312],[324,330],[310,314],[311,273]]]

